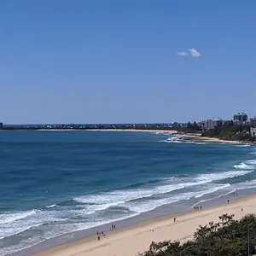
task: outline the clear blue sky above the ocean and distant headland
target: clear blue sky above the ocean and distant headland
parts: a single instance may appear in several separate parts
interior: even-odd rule
[[[253,0],[1,1],[0,120],[256,115],[255,9]]]

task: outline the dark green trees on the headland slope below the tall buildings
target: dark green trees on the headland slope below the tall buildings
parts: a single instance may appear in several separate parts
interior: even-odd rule
[[[229,141],[254,142],[255,137],[250,135],[249,125],[235,125],[232,121],[218,125],[214,129],[203,131],[202,137],[217,137]]]

